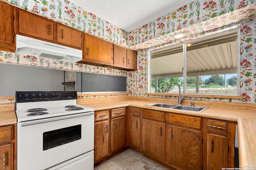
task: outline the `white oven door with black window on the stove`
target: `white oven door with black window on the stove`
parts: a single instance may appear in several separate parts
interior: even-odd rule
[[[43,170],[92,149],[93,111],[17,125],[18,170]]]

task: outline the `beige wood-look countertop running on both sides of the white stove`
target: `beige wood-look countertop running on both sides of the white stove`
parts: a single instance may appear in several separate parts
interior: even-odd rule
[[[145,98],[146,99],[146,98]],[[89,101],[89,100],[88,100]],[[223,119],[229,121],[238,122],[238,143],[239,143],[239,161],[240,165],[244,166],[253,166],[256,165],[256,109],[248,108],[249,111],[242,107],[232,108],[232,107],[223,107],[219,105],[220,102],[217,102],[216,106],[210,106],[208,109],[202,113],[192,112],[192,111],[180,111],[177,109],[168,109],[160,107],[145,106],[148,104],[158,103],[158,100],[113,100],[108,102],[79,102],[78,104],[92,107],[95,111],[112,109],[118,107],[140,107],[146,109],[156,109],[160,111],[175,112],[181,114],[195,115],[200,117],[210,117],[216,119]],[[167,102],[166,102],[167,103]],[[225,102],[224,102],[225,103]],[[195,105],[199,106],[199,104]],[[254,105],[255,106],[255,105]],[[14,109],[11,111],[0,111],[0,126],[10,125],[17,122],[16,114]],[[256,168],[256,167],[252,167]]]

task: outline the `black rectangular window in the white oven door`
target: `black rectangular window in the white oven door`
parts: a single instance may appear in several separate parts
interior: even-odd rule
[[[81,125],[43,133],[43,150],[48,150],[81,139]]]

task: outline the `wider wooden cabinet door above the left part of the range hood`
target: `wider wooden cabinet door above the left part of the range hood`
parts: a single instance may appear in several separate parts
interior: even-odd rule
[[[19,10],[19,32],[53,41],[53,22],[30,12]]]

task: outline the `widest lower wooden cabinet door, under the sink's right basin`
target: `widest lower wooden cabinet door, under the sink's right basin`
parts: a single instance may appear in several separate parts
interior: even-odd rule
[[[201,131],[169,125],[168,163],[184,170],[202,168]]]

